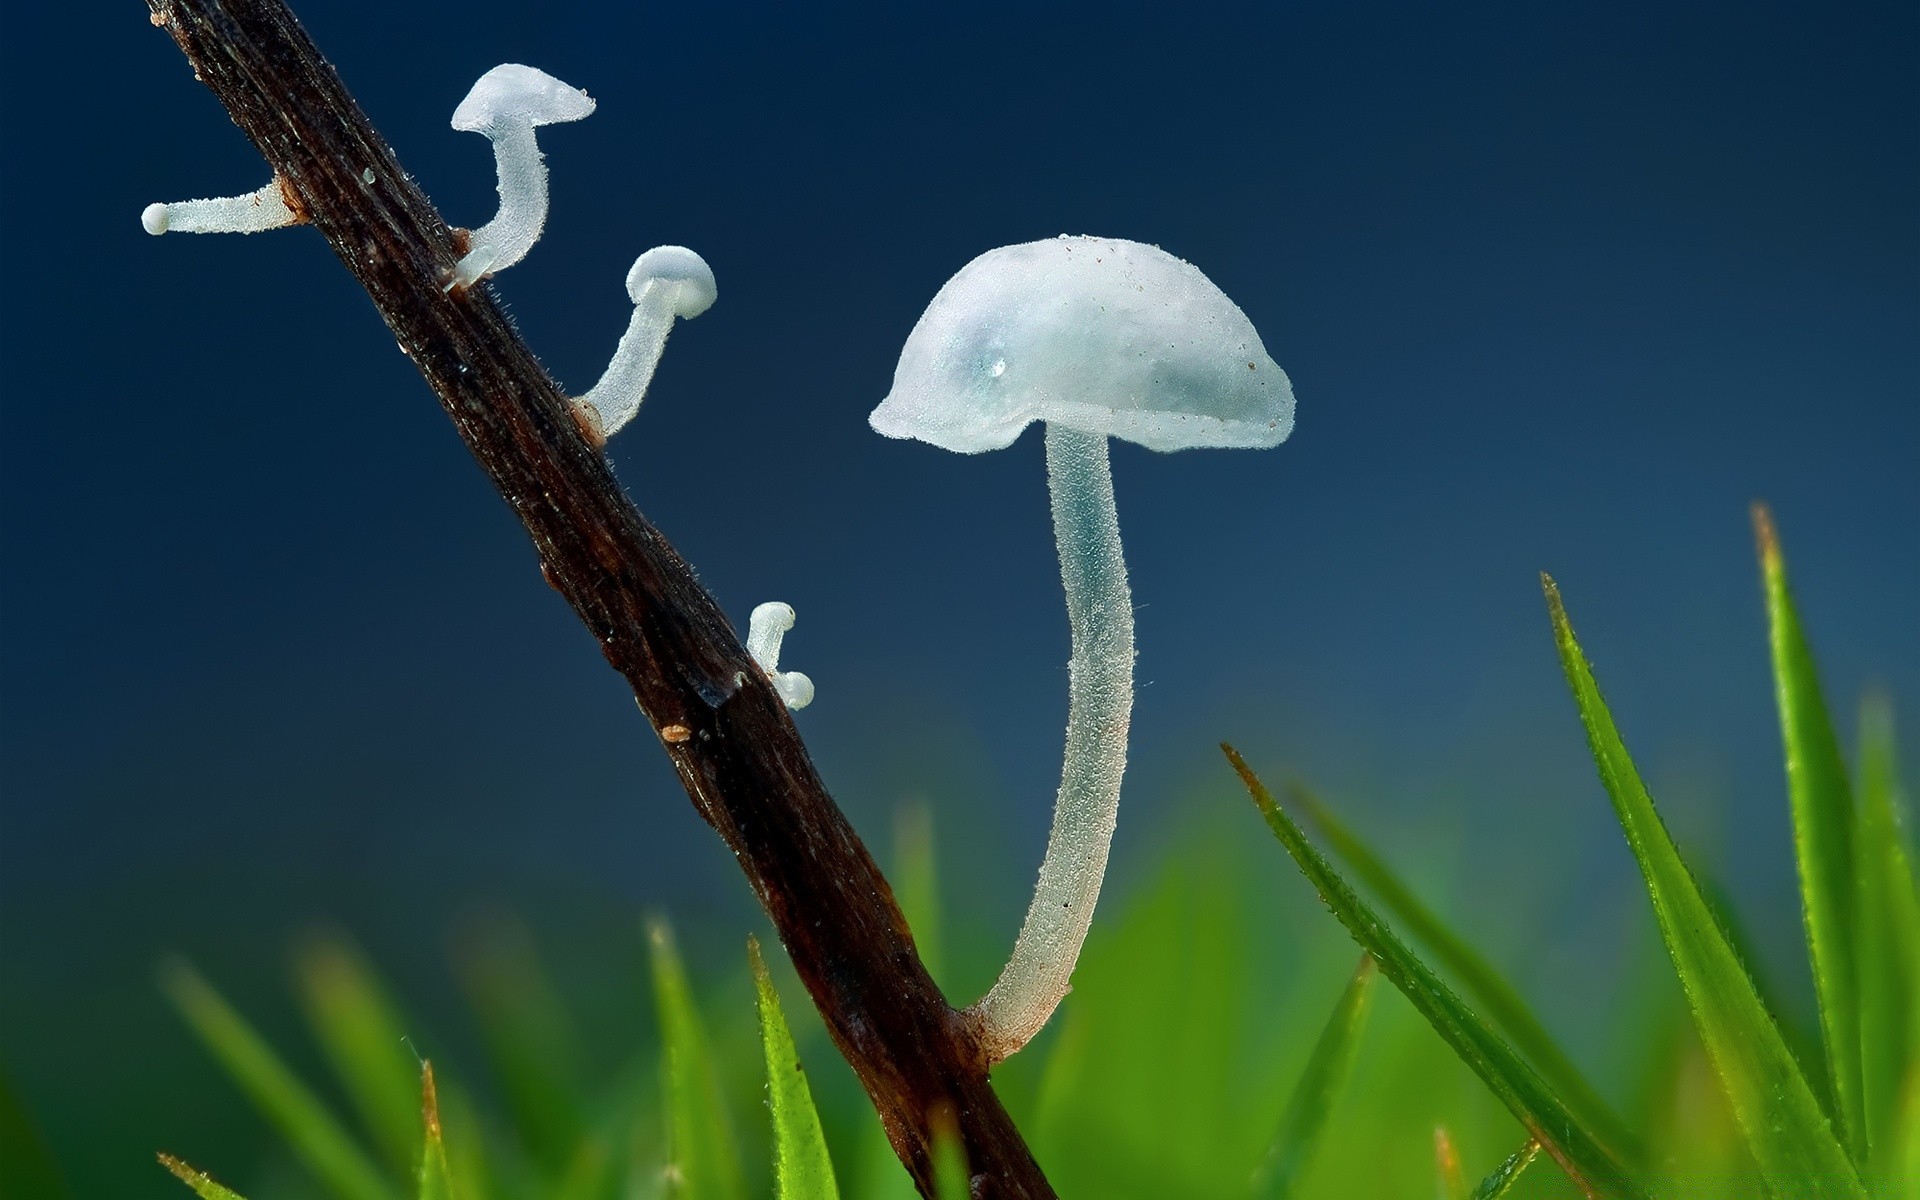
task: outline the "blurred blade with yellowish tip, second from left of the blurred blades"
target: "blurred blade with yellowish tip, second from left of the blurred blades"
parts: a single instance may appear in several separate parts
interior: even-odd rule
[[[419,1060],[367,960],[338,933],[315,933],[294,954],[307,1023],[328,1066],[396,1175],[415,1164]]]

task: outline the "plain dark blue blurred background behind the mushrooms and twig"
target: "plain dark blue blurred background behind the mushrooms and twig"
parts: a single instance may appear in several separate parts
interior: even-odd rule
[[[298,8],[455,223],[493,211],[447,129],[484,69],[599,100],[543,131],[553,215],[499,296],[584,390],[641,250],[712,263],[614,465],[730,612],[797,607],[828,780],[879,841],[931,797],[991,937],[1066,710],[1039,440],[962,459],[866,413],[970,257],[1098,232],[1200,265],[1300,397],[1275,451],[1116,449],[1121,877],[1236,803],[1231,737],[1459,862],[1496,935],[1638,912],[1546,568],[1797,979],[1745,505],[1845,724],[1868,685],[1920,705],[1912,4]],[[169,38],[21,6],[0,54],[0,1054],[56,1142],[100,1114],[138,1158],[221,1092],[154,1000],[167,948],[269,1006],[257,964],[321,914],[428,993],[484,904],[664,908],[730,956],[745,887],[321,238],[140,232],[265,179]]]

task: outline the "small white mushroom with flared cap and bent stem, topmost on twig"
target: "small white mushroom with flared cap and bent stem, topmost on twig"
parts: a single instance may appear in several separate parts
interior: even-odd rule
[[[501,63],[480,77],[453,109],[453,129],[486,134],[499,173],[499,213],[472,230],[467,255],[453,269],[451,288],[505,271],[534,248],[547,225],[547,163],[534,131],[578,121],[593,98],[536,67]]]

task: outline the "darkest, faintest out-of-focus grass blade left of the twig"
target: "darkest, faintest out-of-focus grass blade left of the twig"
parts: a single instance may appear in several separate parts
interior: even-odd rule
[[[588,1133],[580,1041],[559,989],[518,922],[478,931],[459,966],[513,1125],[541,1171],[559,1177]]]

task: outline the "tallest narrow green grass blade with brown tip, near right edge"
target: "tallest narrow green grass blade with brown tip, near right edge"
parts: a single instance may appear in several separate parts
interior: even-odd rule
[[[1753,538],[1766,588],[1780,741],[1786,745],[1788,799],[1793,808],[1793,854],[1799,862],[1814,995],[1820,1000],[1820,1039],[1826,1044],[1841,1140],[1853,1160],[1862,1162],[1866,1123],[1860,1110],[1860,995],[1853,962],[1853,795],[1834,720],[1820,697],[1812,649],[1788,589],[1774,516],[1763,503],[1753,505]]]

